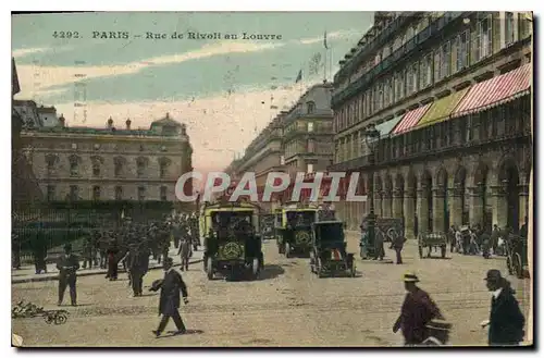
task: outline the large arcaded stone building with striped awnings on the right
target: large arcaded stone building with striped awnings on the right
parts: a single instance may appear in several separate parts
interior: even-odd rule
[[[376,13],[341,61],[335,171],[373,176],[375,212],[408,237],[481,224],[518,230],[532,170],[532,20],[527,13]],[[373,151],[366,131],[381,138]],[[356,230],[367,202],[338,202]]]

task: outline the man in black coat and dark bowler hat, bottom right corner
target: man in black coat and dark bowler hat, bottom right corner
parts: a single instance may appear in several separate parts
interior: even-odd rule
[[[482,326],[489,325],[490,346],[518,345],[523,341],[526,318],[514,296],[515,291],[498,270],[487,271],[484,280],[487,289],[493,295],[490,320],[482,323]]]

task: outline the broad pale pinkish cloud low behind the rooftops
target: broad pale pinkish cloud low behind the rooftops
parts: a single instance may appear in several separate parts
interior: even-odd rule
[[[194,166],[207,172],[222,170],[228,165],[234,152],[242,152],[279,112],[270,110],[270,90],[255,89],[195,101],[88,102],[86,123],[81,122],[81,115],[78,123],[74,123],[73,103],[54,106],[58,113],[63,113],[72,126],[103,127],[111,116],[114,125],[119,127],[125,126],[125,121],[129,118],[133,128],[148,128],[152,121],[163,118],[169,112],[171,118],[187,124],[187,132],[195,150]],[[300,89],[275,90],[273,96],[273,104],[282,109],[298,99]]]

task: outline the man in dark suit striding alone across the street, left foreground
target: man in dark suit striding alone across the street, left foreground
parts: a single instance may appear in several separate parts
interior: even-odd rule
[[[173,263],[174,261],[170,257],[164,260],[164,279],[158,284],[153,283],[153,286],[150,288],[150,291],[161,289],[159,316],[162,314],[162,319],[159,323],[159,328],[153,331],[157,337],[161,335],[162,331],[164,331],[170,318],[174,320],[177,328],[176,334],[183,334],[186,332],[185,324],[183,323],[178,309],[180,292],[182,292],[184,304],[187,305],[189,303],[187,299],[187,286],[185,285],[185,282],[183,282],[182,275],[172,268]]]

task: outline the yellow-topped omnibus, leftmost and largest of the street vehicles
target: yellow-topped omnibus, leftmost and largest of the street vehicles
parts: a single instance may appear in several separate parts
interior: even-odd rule
[[[259,207],[239,202],[206,205],[199,219],[208,279],[215,273],[257,279],[264,266]]]

